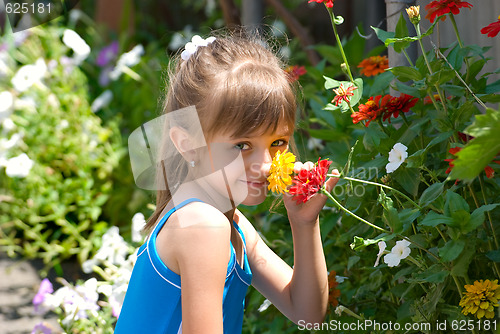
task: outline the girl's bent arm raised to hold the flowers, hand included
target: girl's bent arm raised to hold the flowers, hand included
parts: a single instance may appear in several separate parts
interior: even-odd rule
[[[331,191],[337,181],[338,178],[329,179],[327,190]],[[264,243],[248,220],[241,217],[248,233],[247,249],[254,274],[252,285],[291,321],[319,323],[325,317],[328,304],[328,275],[318,219],[326,196],[315,194],[300,205],[289,195],[285,195],[284,201],[293,235],[293,269]]]

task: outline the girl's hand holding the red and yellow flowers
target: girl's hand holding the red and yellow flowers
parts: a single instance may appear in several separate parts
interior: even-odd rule
[[[296,162],[294,165],[294,172],[299,173],[302,169],[311,170],[314,168],[314,163],[307,161],[306,163]],[[332,174],[340,175],[337,169],[332,171]],[[330,177],[325,182],[326,191],[333,190],[339,178]],[[299,203],[292,199],[293,195],[285,193],[283,201],[285,208],[288,212],[288,219],[291,224],[314,224],[318,221],[319,212],[325,206],[327,196],[321,192],[314,194],[307,202]]]

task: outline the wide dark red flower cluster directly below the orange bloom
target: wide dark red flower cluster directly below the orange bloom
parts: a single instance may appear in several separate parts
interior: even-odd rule
[[[351,114],[352,122],[357,124],[361,121],[365,122],[365,126],[370,125],[371,121],[379,117],[385,121],[393,116],[399,117],[400,112],[408,112],[417,104],[418,99],[411,95],[401,94],[401,96],[378,95],[370,97],[365,104],[359,105],[359,111]]]

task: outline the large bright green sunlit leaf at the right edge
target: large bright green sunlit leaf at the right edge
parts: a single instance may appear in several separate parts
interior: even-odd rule
[[[472,181],[500,151],[500,112],[487,109],[486,114],[476,115],[465,133],[475,138],[456,154],[449,178]]]

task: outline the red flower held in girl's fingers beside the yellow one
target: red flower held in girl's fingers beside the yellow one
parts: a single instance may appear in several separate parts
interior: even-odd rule
[[[302,169],[293,179],[289,193],[299,203],[307,202],[314,194],[321,190],[326,181],[326,174],[332,162],[318,159],[318,163],[311,170]]]

